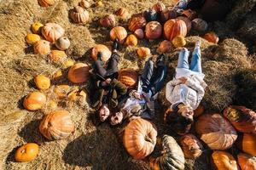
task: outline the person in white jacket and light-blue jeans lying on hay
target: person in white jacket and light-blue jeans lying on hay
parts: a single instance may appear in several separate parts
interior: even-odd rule
[[[201,41],[195,42],[189,68],[189,51],[182,48],[179,53],[176,76],[166,84],[166,99],[172,104],[166,123],[179,134],[189,132],[195,109],[201,103],[207,83],[201,70]]]

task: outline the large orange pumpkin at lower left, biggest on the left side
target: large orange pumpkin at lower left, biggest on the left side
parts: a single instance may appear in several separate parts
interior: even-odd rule
[[[66,139],[75,130],[68,111],[52,111],[44,116],[39,131],[49,140]]]

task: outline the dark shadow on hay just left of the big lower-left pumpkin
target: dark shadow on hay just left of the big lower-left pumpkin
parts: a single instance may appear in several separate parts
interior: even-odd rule
[[[22,127],[18,133],[21,138],[23,138],[26,143],[37,143],[43,144],[44,142],[49,142],[44,136],[39,132],[40,119],[34,120]]]

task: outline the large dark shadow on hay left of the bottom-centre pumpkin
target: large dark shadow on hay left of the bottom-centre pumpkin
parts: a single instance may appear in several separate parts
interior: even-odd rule
[[[67,144],[62,159],[67,164],[91,169],[123,169],[127,154],[107,123]]]

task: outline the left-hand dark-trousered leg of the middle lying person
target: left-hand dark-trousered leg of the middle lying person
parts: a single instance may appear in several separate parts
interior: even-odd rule
[[[142,87],[143,87],[143,92],[148,93],[149,91],[149,84],[150,84],[150,80],[151,77],[153,75],[153,71],[154,71],[154,63],[152,60],[149,60],[146,62],[146,65],[144,66],[143,69],[143,74],[141,76],[142,78]]]

